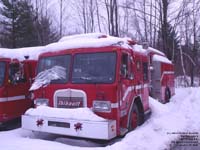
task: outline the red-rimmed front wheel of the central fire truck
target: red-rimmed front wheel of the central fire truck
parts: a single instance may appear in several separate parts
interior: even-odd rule
[[[129,131],[134,130],[139,125],[139,117],[140,116],[138,107],[135,104],[133,104],[129,118],[129,126],[128,126]]]

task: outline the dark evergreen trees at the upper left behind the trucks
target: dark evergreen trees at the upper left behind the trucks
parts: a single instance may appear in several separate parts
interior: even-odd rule
[[[4,17],[0,21],[3,47],[18,48],[46,45],[58,39],[48,17],[38,16],[28,0],[1,0]],[[42,15],[42,14],[40,14]]]

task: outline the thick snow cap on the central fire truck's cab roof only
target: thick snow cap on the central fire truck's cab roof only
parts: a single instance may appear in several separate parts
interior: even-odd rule
[[[119,38],[102,33],[89,33],[63,37],[59,42],[49,44],[45,47],[47,52],[76,49],[76,48],[97,48],[112,45],[120,45],[124,48],[131,48],[130,38]]]

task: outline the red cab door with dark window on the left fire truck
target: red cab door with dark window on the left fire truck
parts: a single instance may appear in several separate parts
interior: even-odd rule
[[[6,85],[7,102],[5,110],[8,120],[20,117],[30,106],[26,99],[29,81],[24,75],[23,64],[11,63],[8,67],[8,81]]]

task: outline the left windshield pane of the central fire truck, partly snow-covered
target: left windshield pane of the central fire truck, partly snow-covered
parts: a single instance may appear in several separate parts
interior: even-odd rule
[[[69,70],[70,70],[70,61],[71,56],[70,55],[62,55],[62,56],[52,56],[52,57],[44,57],[39,60],[38,65],[38,75],[39,74],[52,74],[52,71],[55,73],[57,68],[59,71],[56,71],[58,75],[62,75],[62,78],[55,78],[54,76],[51,77],[51,83],[66,83],[69,79]],[[57,68],[55,68],[55,66]],[[64,72],[63,72],[64,71]],[[63,74],[65,77],[63,77]]]

